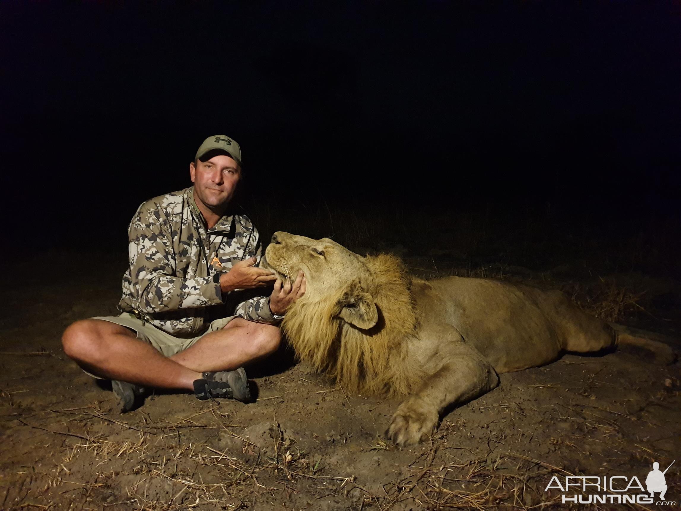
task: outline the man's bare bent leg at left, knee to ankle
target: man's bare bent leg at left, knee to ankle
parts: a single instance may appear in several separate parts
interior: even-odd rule
[[[104,320],[81,320],[62,336],[64,352],[92,373],[157,388],[193,390],[199,371],[163,356],[135,332]]]

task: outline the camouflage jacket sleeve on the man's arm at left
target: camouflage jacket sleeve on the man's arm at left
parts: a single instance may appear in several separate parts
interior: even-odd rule
[[[205,258],[205,255],[201,253],[202,246],[197,243],[180,244],[180,253],[176,253],[174,240],[180,234],[181,225],[174,226],[176,222],[168,218],[169,213],[170,216],[174,213],[173,202],[145,202],[138,208],[129,226],[129,289],[138,311],[147,314],[222,303],[219,285],[210,275],[178,276],[178,258],[196,261]]]

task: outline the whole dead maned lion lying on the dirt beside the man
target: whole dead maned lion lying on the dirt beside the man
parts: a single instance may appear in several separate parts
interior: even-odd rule
[[[363,258],[328,238],[276,232],[261,266],[302,269],[307,292],[282,328],[296,355],[351,392],[403,395],[387,429],[417,444],[447,407],[498,385],[498,374],[548,364],[564,351],[630,343],[673,360],[663,344],[618,334],[561,292],[488,279],[412,279],[392,255]]]

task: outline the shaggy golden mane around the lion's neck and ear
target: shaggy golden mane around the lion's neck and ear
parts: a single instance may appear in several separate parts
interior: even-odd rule
[[[418,318],[407,268],[392,256],[366,258],[373,281],[362,282],[375,300],[379,321],[369,330],[338,318],[343,294],[307,296],[287,311],[282,328],[300,360],[334,377],[356,394],[404,395],[423,375],[407,357],[407,339],[416,335]]]

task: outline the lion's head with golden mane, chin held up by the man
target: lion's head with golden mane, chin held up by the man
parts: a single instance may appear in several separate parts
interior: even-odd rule
[[[282,323],[299,358],[353,392],[409,390],[405,339],[417,321],[398,258],[363,258],[329,238],[276,232],[261,266],[285,279],[305,274],[307,291]]]

